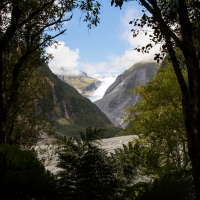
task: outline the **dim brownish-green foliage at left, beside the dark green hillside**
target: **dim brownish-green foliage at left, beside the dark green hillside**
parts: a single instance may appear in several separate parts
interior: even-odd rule
[[[49,107],[53,107],[49,99],[52,87],[43,77],[42,68],[26,75],[28,77],[22,77],[12,107],[7,110],[4,126],[8,144],[31,146],[40,140],[43,133],[53,134],[53,118],[47,113]],[[6,105],[6,99],[4,102]]]

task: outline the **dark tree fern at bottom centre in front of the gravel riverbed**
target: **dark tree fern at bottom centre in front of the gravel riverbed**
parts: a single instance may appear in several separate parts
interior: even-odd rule
[[[95,145],[102,129],[90,127],[81,139],[67,139],[59,153],[58,181],[63,199],[113,199],[118,181],[107,152]]]

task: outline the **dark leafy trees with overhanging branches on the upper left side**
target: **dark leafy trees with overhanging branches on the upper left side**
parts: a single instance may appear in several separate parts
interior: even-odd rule
[[[38,103],[42,101],[45,108],[44,104],[49,105],[50,86],[36,72],[51,58],[45,55],[45,48],[56,44],[54,39],[65,32],[62,26],[76,8],[85,12],[88,28],[96,26],[100,6],[90,0],[1,1],[0,143],[34,143],[41,132],[47,131],[44,121],[49,116],[43,107],[38,109]],[[44,123],[38,124],[40,121]],[[24,132],[30,134],[25,137]]]

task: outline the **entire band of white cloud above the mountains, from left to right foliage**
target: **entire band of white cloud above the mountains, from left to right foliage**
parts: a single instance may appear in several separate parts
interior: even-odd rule
[[[121,56],[108,55],[108,62],[83,62],[79,57],[79,49],[71,50],[61,41],[57,49],[47,48],[47,53],[54,55],[54,59],[49,63],[50,69],[55,74],[78,74],[79,71],[86,72],[89,76],[108,72],[119,74],[137,62],[152,61],[155,53],[159,52],[159,45],[153,47],[148,54],[134,50],[138,45],[143,46],[149,43],[149,37],[145,36],[145,33],[141,33],[136,38],[132,36],[131,29],[133,27],[129,24],[129,21],[140,18],[140,16],[141,12],[135,10],[134,6],[129,6],[125,14],[121,16],[120,38],[128,44],[128,49]],[[151,33],[152,30],[148,28],[148,31]]]

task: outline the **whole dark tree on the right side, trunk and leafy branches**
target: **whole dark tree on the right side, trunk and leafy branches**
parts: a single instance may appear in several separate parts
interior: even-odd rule
[[[111,5],[121,7],[123,2],[127,1],[112,0]],[[166,52],[169,54],[182,93],[188,153],[193,168],[197,199],[200,199],[200,2],[196,0],[138,0],[138,2],[145,8],[144,14],[140,20],[133,20],[130,24],[139,28],[147,25],[153,29],[154,34],[150,35],[150,44],[137,49],[148,53],[154,44],[161,43],[161,54],[157,54],[155,59],[163,58]],[[139,33],[135,29],[132,31],[133,36]],[[175,47],[183,55],[188,82],[183,77]]]

